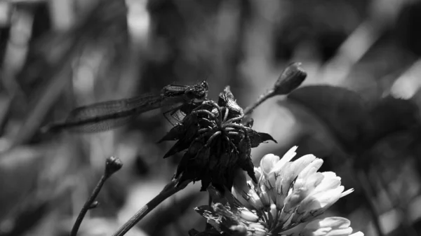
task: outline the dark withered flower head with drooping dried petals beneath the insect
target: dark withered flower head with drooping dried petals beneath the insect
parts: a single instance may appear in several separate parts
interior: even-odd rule
[[[215,188],[231,189],[234,172],[241,168],[257,183],[250,159],[251,148],[264,141],[275,141],[269,134],[257,132],[251,125],[243,125],[243,109],[226,87],[218,103],[206,100],[182,109],[185,118],[161,141],[178,140],[164,155],[168,158],[187,151],[178,165],[175,178],[201,181],[201,190],[212,183]]]

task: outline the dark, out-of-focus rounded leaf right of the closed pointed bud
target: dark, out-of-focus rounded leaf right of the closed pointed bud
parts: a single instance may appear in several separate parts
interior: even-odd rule
[[[314,113],[347,148],[353,148],[368,132],[370,118],[366,102],[346,88],[330,85],[298,88],[288,95],[288,101]]]

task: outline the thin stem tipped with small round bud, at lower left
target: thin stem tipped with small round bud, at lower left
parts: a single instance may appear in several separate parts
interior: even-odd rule
[[[98,181],[97,185],[93,189],[93,192],[91,196],[88,198],[88,200],[83,205],[81,212],[79,213],[79,216],[77,216],[76,221],[74,222],[72,232],[70,232],[70,236],[76,236],[77,231],[79,230],[79,227],[83,221],[83,218],[86,215],[86,212],[88,212],[89,209],[95,208],[98,206],[98,201],[95,201],[96,197],[98,196],[98,193],[100,193],[100,190],[102,186],[104,185],[105,181],[112,176],[115,172],[117,172],[121,167],[123,166],[123,163],[121,163],[121,160],[119,158],[109,157],[105,161],[105,171],[104,174],[102,174],[100,181]]]

